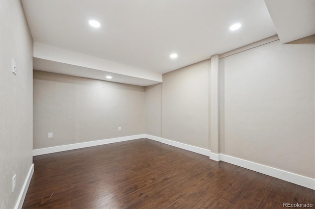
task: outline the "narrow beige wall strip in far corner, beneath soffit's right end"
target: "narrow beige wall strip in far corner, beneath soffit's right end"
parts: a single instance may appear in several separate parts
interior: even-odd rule
[[[162,84],[145,87],[145,133],[162,137]]]

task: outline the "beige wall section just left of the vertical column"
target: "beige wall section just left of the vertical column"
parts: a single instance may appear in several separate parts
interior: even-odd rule
[[[209,149],[210,60],[163,74],[162,137]]]

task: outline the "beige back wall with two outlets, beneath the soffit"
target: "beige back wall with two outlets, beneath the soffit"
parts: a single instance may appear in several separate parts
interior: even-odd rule
[[[144,133],[144,87],[43,71],[33,86],[33,149]]]

